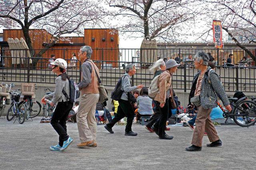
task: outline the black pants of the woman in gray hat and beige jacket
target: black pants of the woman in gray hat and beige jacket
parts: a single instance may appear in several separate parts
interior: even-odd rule
[[[169,113],[169,103],[168,99],[165,100],[164,107],[160,107],[160,103],[156,102],[156,112],[160,112],[160,118],[156,123],[154,124],[154,129],[158,130],[158,135],[160,137],[163,137],[165,135],[165,127],[166,127],[166,121]]]

